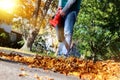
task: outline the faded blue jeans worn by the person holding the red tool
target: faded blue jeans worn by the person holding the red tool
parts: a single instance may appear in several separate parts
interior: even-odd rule
[[[58,37],[58,41],[60,42],[58,45],[58,54],[67,54],[68,50],[65,47],[64,40],[71,46],[73,28],[76,21],[78,12],[70,11],[62,18],[61,24],[56,26],[56,33]]]

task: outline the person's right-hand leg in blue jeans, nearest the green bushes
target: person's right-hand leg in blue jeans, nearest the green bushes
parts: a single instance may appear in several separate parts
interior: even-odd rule
[[[73,34],[73,27],[75,24],[77,13],[76,11],[70,12],[65,19],[65,24],[64,24],[64,36],[65,36],[65,42],[64,44],[66,45],[67,42],[67,53],[68,54],[72,42],[72,34]]]

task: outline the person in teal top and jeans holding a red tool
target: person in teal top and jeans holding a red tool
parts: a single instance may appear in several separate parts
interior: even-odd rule
[[[55,23],[53,26],[56,28],[57,37],[60,42],[57,52],[58,55],[70,55],[73,27],[80,10],[80,3],[81,0],[59,0],[58,12],[54,21],[50,22],[50,24]]]

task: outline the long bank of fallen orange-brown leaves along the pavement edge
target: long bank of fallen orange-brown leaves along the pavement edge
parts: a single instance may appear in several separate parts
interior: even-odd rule
[[[21,62],[29,67],[43,68],[65,75],[76,75],[87,80],[120,80],[120,62],[113,60],[97,61],[79,58],[52,58],[48,56],[21,56],[0,52],[0,58]]]

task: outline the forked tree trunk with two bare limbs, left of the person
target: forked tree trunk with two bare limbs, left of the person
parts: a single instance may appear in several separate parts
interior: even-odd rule
[[[41,16],[41,19],[40,19],[40,25],[42,25],[42,22],[43,22],[43,19],[45,19],[45,16],[47,14],[47,11],[49,9],[49,5],[51,4],[52,0],[47,0],[46,3],[45,3],[45,6],[44,6],[44,15],[42,14]],[[29,31],[29,35],[27,37],[25,41],[25,44],[23,45],[23,47],[21,48],[22,50],[26,50],[26,51],[31,51],[32,50],[32,44],[34,43],[34,40],[36,38],[36,36],[38,35],[39,33],[39,30],[40,30],[40,27],[36,27],[37,26],[37,18],[38,18],[38,15],[39,15],[39,10],[40,10],[40,4],[41,4],[41,0],[36,0],[36,3],[35,3],[35,10],[33,12],[33,16],[32,16],[32,23],[33,25],[35,26],[34,29],[31,29]]]

